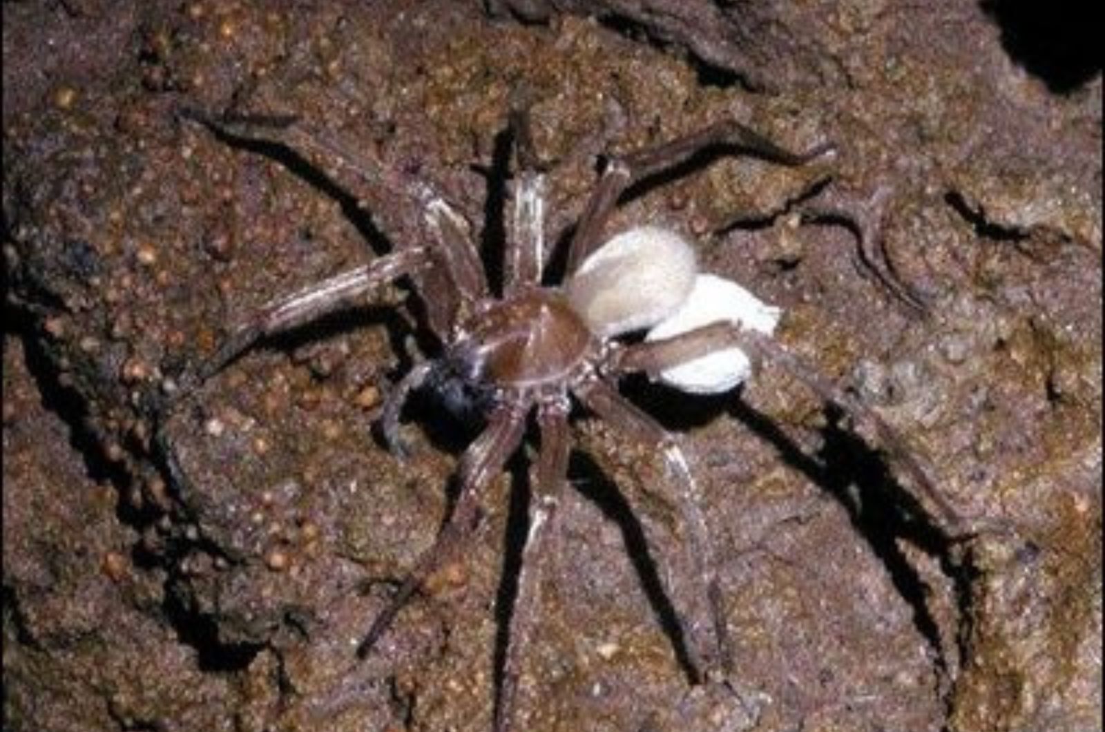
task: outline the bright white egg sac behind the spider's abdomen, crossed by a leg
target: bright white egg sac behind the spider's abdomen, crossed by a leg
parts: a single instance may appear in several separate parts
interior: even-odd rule
[[[736,282],[699,274],[680,309],[649,331],[645,341],[670,338],[718,321],[771,335],[781,315],[780,309],[768,305]],[[669,368],[657,378],[691,394],[720,394],[739,385],[750,373],[747,354],[732,347]]]

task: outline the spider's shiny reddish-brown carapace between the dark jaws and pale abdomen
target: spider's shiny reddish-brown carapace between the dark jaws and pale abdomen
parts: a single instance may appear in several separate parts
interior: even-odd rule
[[[532,387],[565,379],[598,342],[559,291],[540,289],[482,312],[460,348],[481,379]]]

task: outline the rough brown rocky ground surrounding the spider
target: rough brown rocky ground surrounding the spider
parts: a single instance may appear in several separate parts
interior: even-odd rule
[[[727,116],[833,140],[801,169],[716,161],[615,223],[695,236],[1006,531],[954,541],[872,436],[770,364],[724,398],[630,381],[702,481],[735,693],[687,683],[670,615],[691,573],[657,467],[581,419],[518,728],[1101,729],[1101,75],[1080,19],[1019,8],[6,3],[4,729],[490,728],[526,456],[465,561],[352,653],[471,439],[429,400],[409,462],[372,437],[432,355],[411,293],[165,409],[234,323],[415,241],[419,212],[175,112],[295,113],[433,180],[494,261],[486,171],[519,81],[557,160],[552,230],[603,150]]]

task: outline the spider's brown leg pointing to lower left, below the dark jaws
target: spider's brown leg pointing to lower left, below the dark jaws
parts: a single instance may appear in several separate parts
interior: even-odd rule
[[[371,652],[376,641],[422,582],[443,562],[451,558],[470,537],[477,513],[480,493],[499,473],[522,441],[527,411],[527,408],[514,406],[499,407],[491,416],[484,431],[465,451],[461,459],[460,493],[452,513],[438,533],[433,545],[414,562],[414,567],[403,579],[394,596],[372,621],[365,639],[357,648],[358,657],[365,658]]]

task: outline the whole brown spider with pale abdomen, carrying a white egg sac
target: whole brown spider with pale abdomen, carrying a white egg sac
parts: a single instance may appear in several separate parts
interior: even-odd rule
[[[770,337],[778,311],[735,283],[699,273],[693,247],[673,232],[638,227],[603,238],[611,212],[635,184],[665,172],[685,172],[723,154],[751,154],[800,166],[829,151],[831,145],[792,153],[730,119],[655,147],[609,157],[567,238],[565,282],[551,286],[543,284],[545,172],[533,144],[529,108],[515,98],[508,114],[518,170],[498,296],[466,234],[465,220],[413,175],[366,165],[325,133],[303,130],[294,116],[182,113],[225,139],[264,140],[319,155],[361,184],[382,187],[415,203],[422,215],[424,241],[269,303],[233,330],[199,370],[200,379],[208,378],[259,341],[348,307],[397,279],[409,276],[420,287],[427,325],[441,352],[413,366],[394,385],[382,408],[383,437],[393,451],[404,451],[399,439],[400,414],[411,393],[420,388],[474,409],[485,419],[460,459],[451,513],[434,543],[417,558],[372,621],[358,648],[359,657],[370,652],[422,582],[464,547],[478,516],[481,494],[522,446],[535,416],[539,446],[494,704],[495,732],[508,732],[512,726],[519,667],[538,620],[538,587],[568,482],[573,400],[628,439],[653,448],[662,460],[664,490],[680,509],[698,573],[693,602],[696,608],[705,608],[713,625],[711,642],[701,644],[688,632],[685,618],[678,618],[687,663],[696,682],[707,680],[718,668],[729,670],[717,568],[694,477],[678,437],[619,391],[619,379],[627,374],[643,372],[685,391],[720,393],[747,377],[749,358],[771,360],[850,415],[857,428],[866,426],[885,441],[892,448],[890,459],[904,467],[941,513],[955,515],[908,451],[895,449],[896,437],[874,411]],[[702,303],[706,303],[704,310]],[[723,304],[718,307],[717,303]],[[646,328],[650,333],[643,341],[623,337]]]

